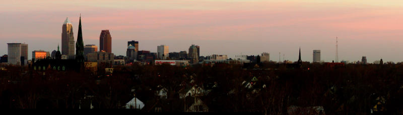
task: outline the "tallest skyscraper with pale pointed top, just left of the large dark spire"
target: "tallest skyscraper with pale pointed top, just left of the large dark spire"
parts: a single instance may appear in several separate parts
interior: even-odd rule
[[[68,55],[70,59],[74,59],[75,41],[73,36],[73,26],[69,18],[66,18],[61,28],[61,54]]]

